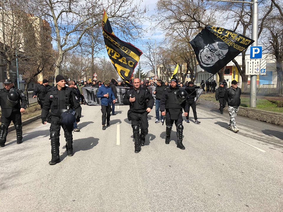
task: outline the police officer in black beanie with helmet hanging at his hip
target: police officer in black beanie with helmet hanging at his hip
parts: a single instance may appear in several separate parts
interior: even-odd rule
[[[65,78],[61,75],[57,75],[55,81],[57,85],[47,91],[41,112],[42,124],[47,123],[46,118],[49,110],[51,114],[50,140],[52,159],[49,161],[50,165],[60,162],[59,134],[61,127],[64,130],[66,138],[67,154],[68,156],[73,156],[73,123],[80,121],[82,110],[80,100],[76,96],[77,92],[73,88],[65,86]],[[72,111],[73,113],[68,112],[67,110],[69,109],[74,109],[76,113],[74,111]],[[75,117],[75,115],[77,115],[77,117]]]

